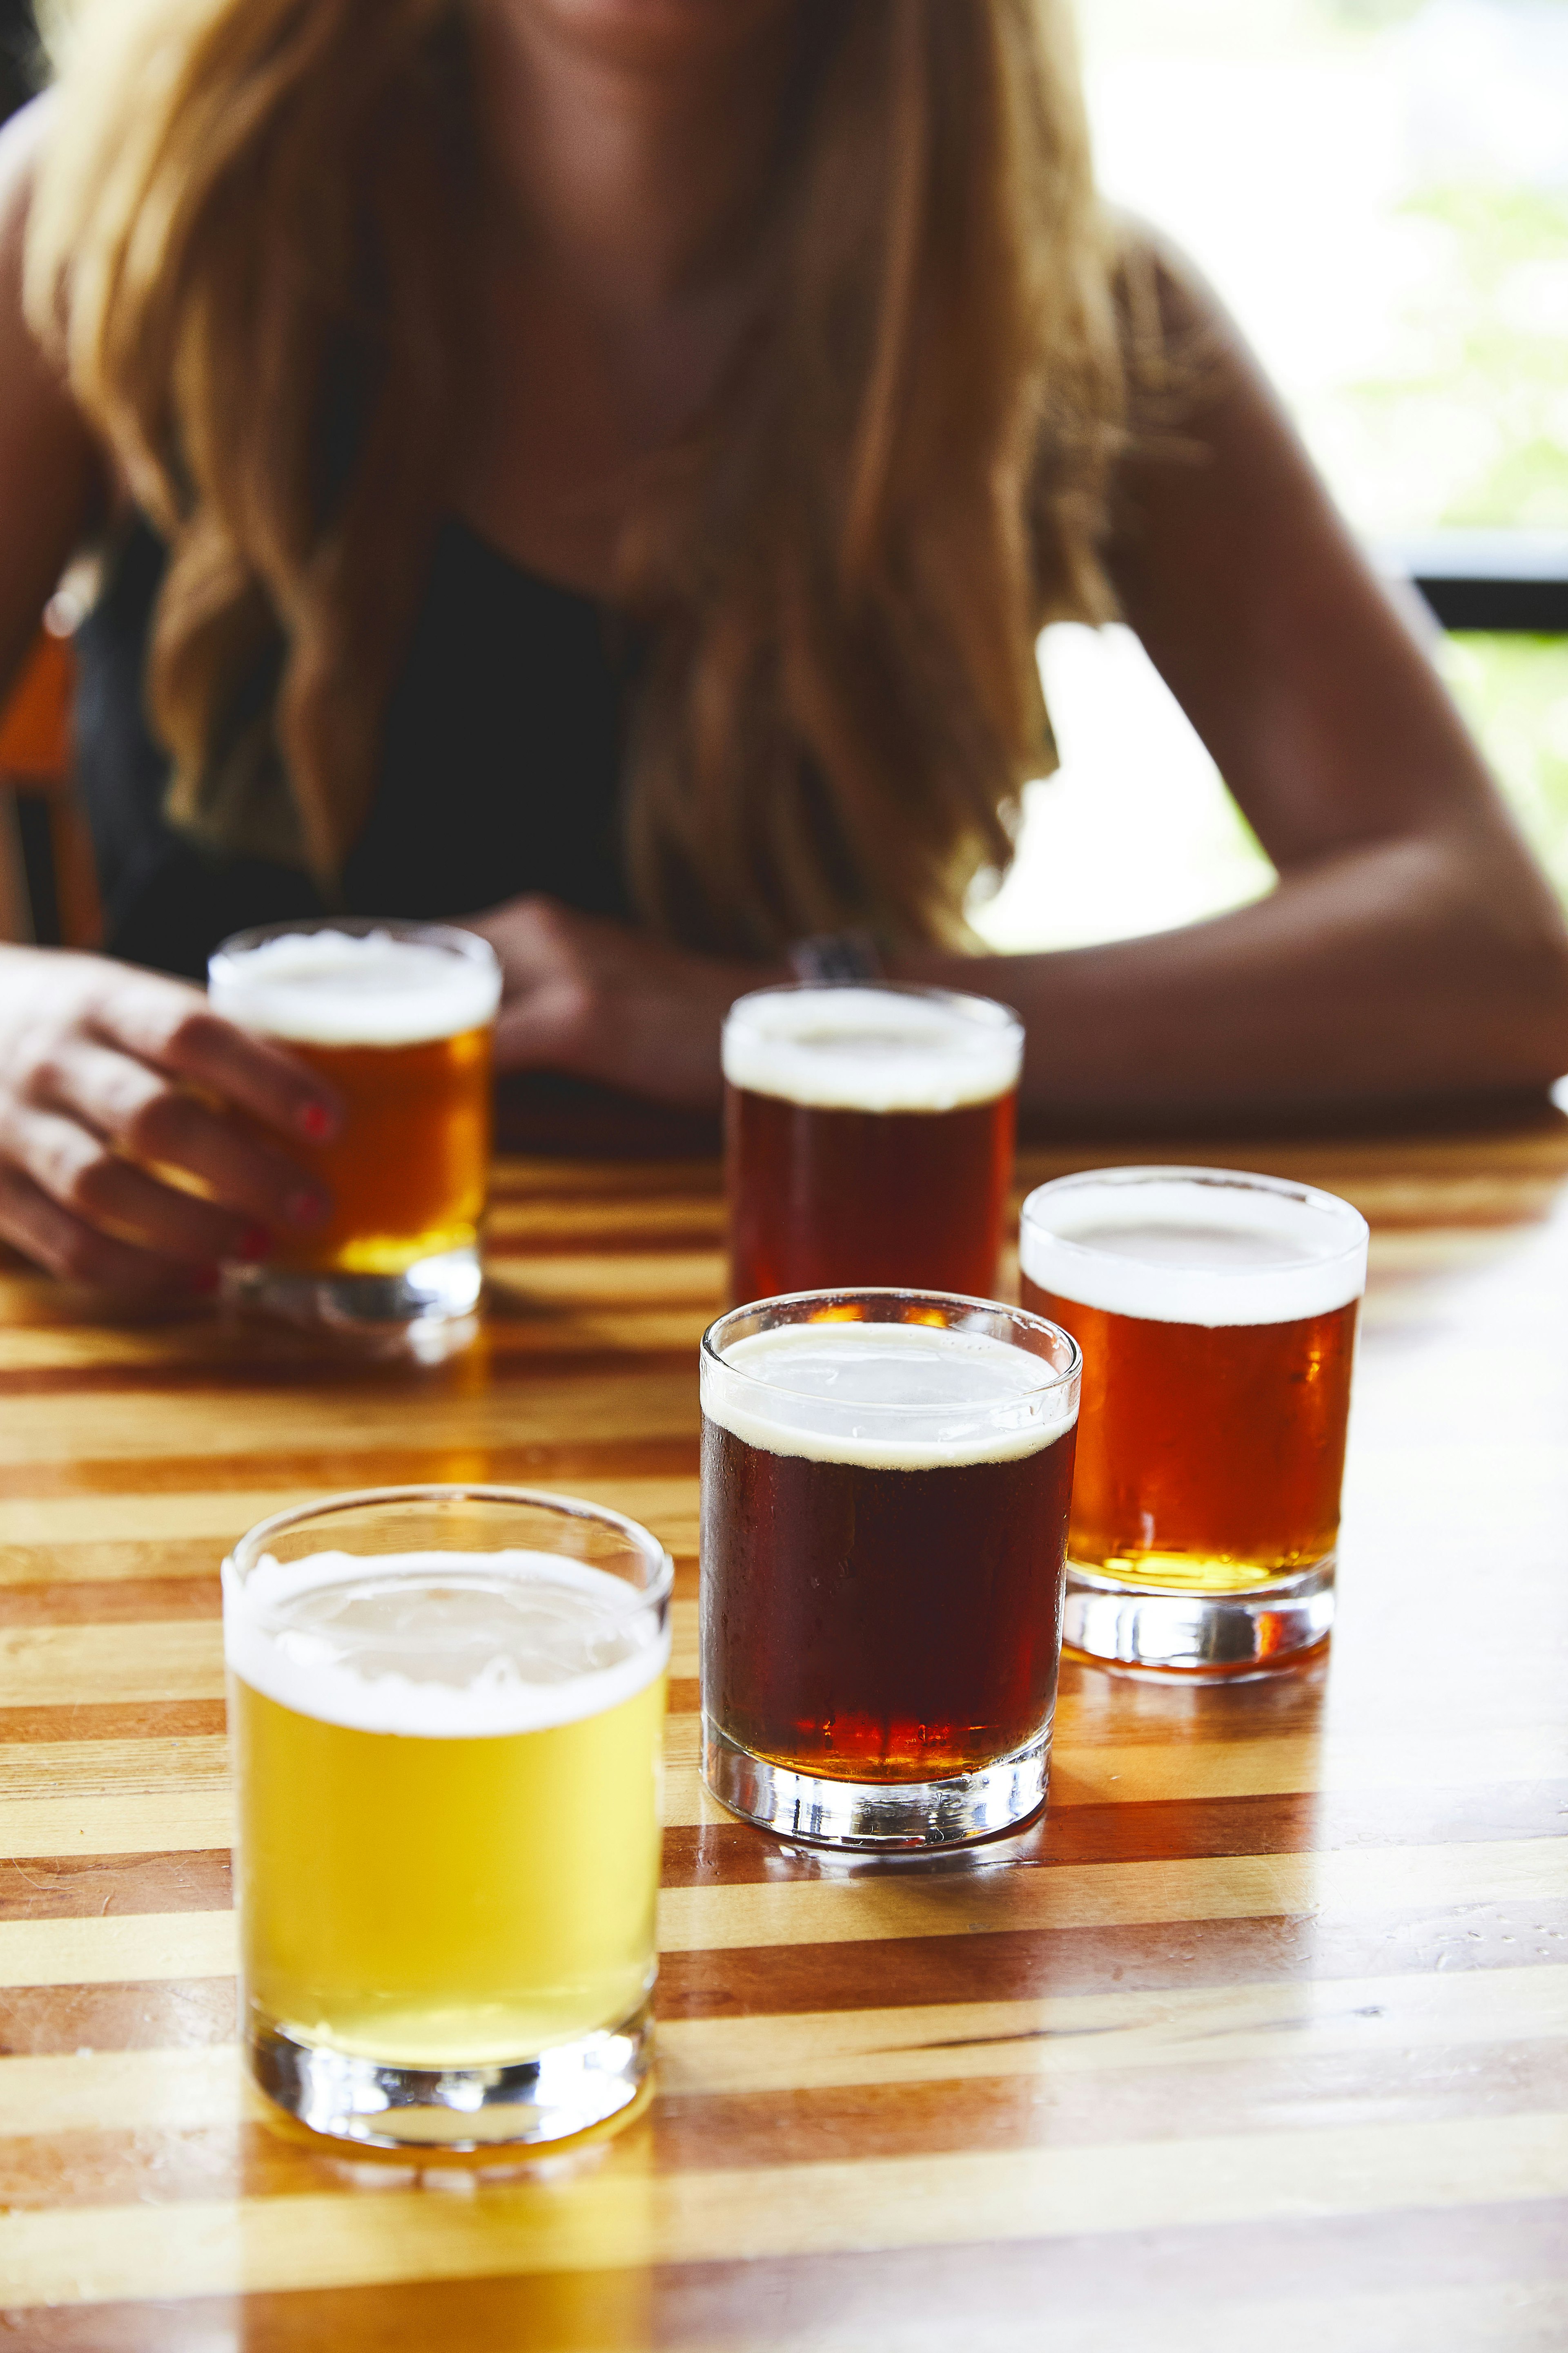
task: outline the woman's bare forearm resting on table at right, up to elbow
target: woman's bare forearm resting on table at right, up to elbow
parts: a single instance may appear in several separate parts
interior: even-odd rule
[[[1474,838],[1363,845],[1147,939],[896,972],[1020,1009],[1034,1120],[1316,1111],[1568,1071],[1563,922],[1523,859]]]

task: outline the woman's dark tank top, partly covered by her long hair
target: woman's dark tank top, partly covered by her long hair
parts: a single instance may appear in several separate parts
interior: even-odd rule
[[[143,704],[162,569],[162,544],[136,525],[75,638],[75,760],[108,953],[200,979],[230,932],[329,908],[296,868],[214,856],[162,814],[169,762]],[[592,598],[449,520],[334,911],[440,920],[548,892],[628,915],[618,781],[632,661],[625,626]]]

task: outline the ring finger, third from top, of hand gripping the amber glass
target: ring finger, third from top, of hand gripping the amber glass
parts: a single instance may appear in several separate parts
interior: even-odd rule
[[[188,1266],[261,1257],[268,1247],[268,1233],[254,1219],[158,1184],[59,1111],[16,1111],[5,1144],[12,1167],[40,1193],[110,1240],[127,1240]]]

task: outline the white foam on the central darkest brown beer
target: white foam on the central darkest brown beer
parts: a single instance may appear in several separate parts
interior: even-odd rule
[[[809,1322],[703,1351],[703,1412],[764,1454],[938,1471],[1053,1445],[1079,1384],[987,1332]]]

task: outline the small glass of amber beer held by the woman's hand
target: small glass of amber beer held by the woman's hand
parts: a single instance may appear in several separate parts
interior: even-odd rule
[[[331,1217],[230,1268],[230,1297],[341,1329],[473,1315],[501,1005],[489,941],[433,922],[282,922],[226,939],[207,986],[216,1012],[287,1045],[346,1106],[329,1144],[289,1144]]]

